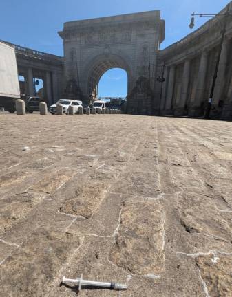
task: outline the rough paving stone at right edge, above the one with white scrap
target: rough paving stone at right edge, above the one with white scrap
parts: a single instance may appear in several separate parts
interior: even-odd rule
[[[206,202],[207,201],[207,202]],[[232,252],[231,220],[220,212],[210,197],[187,193],[178,199],[180,223],[189,233],[189,243],[201,250]]]

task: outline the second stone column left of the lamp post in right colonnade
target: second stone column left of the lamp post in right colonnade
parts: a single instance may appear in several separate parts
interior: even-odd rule
[[[186,60],[184,62],[184,71],[182,75],[180,102],[178,104],[178,108],[174,112],[175,115],[184,115],[184,105],[187,101],[187,95],[188,95],[188,89],[189,89],[189,73],[190,73],[190,61]]]

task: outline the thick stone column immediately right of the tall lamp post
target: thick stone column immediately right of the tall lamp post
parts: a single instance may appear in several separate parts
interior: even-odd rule
[[[222,52],[220,55],[220,62],[218,66],[218,76],[215,82],[215,89],[213,92],[213,100],[212,100],[212,107],[214,106],[216,110],[218,110],[218,103],[220,101],[223,87],[224,87],[224,74],[226,70],[228,50],[229,50],[229,43],[227,39],[224,39],[224,43],[222,45]]]

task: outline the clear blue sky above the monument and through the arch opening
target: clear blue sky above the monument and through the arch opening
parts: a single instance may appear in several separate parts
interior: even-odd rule
[[[166,21],[164,48],[191,32],[192,12],[216,13],[227,3],[229,0],[1,0],[0,39],[63,56],[57,32],[65,21],[160,10]],[[195,28],[207,20],[196,19]],[[109,70],[101,78],[100,96],[125,96],[126,79],[123,70]]]

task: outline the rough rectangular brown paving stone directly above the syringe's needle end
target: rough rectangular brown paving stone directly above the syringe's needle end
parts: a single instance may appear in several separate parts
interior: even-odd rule
[[[159,202],[125,202],[110,260],[131,274],[159,274],[165,264]]]

